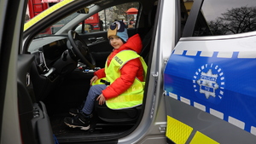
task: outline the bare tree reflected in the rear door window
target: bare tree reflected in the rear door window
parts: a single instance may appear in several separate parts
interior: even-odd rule
[[[256,30],[256,7],[228,9],[216,20],[208,22],[213,35],[235,34]]]

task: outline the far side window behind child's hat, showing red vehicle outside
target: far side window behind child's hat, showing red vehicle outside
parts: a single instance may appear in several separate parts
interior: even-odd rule
[[[108,31],[108,27],[113,20],[123,20],[127,28],[133,28],[136,26],[138,9],[139,3],[137,2],[103,9],[85,20],[85,24],[92,26],[91,30],[87,32]]]

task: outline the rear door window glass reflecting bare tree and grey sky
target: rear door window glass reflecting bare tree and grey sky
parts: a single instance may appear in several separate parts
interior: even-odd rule
[[[255,0],[206,0],[202,11],[213,35],[256,30]]]

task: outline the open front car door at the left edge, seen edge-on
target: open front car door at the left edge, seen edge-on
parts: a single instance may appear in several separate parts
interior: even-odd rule
[[[21,52],[26,3],[26,0],[0,2],[2,144],[54,143],[44,103],[33,99],[30,69],[34,57]]]

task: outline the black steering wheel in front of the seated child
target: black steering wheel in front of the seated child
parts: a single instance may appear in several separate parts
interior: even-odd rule
[[[73,52],[75,57],[82,60],[84,64],[94,68],[96,66],[95,59],[91,55],[86,43],[84,43],[84,40],[73,30],[70,30],[67,34],[70,42],[70,44],[67,44],[68,49]]]

